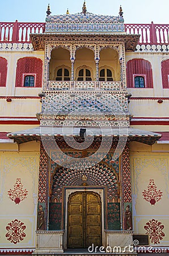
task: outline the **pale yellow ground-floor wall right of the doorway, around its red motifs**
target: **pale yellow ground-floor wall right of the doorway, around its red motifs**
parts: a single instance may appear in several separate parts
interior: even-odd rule
[[[161,222],[165,234],[162,240],[154,243],[150,239],[151,246],[167,246],[169,240],[169,188],[168,188],[168,168],[169,168],[169,145],[154,144],[144,145],[138,142],[130,143],[130,166],[132,172],[132,197],[133,197],[133,224],[134,233],[146,234],[144,226],[153,219]],[[151,205],[142,195],[144,190],[148,191],[150,179],[154,180],[157,191],[162,191],[162,199]],[[155,193],[153,193],[154,199]],[[149,195],[149,198],[153,196]],[[155,225],[159,236],[160,228]]]

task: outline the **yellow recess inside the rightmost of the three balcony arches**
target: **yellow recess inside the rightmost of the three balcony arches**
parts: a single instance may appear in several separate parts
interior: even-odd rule
[[[113,81],[120,80],[120,63],[119,63],[119,54],[115,49],[110,47],[103,48],[100,51],[100,60],[99,60],[99,71],[102,68],[110,69],[112,71]]]

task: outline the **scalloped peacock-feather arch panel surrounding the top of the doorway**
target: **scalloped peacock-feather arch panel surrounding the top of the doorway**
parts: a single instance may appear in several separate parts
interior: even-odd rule
[[[56,152],[51,152],[51,154]],[[66,152],[69,156],[82,156],[81,152]],[[91,154],[89,152],[88,154]],[[109,202],[117,201],[119,198],[119,159],[112,160],[112,154],[109,153],[102,162],[95,165],[87,158],[81,158],[78,162],[74,160],[66,163],[66,167],[58,165],[53,160],[50,161],[50,183],[51,201],[62,201],[63,186],[107,186],[107,198]],[[84,180],[85,177],[85,180]],[[85,182],[84,182],[85,181]]]

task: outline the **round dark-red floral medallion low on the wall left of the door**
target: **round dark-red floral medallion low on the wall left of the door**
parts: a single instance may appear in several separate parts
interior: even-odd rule
[[[26,233],[23,232],[25,229],[26,225],[24,225],[23,222],[15,219],[7,224],[7,233],[5,236],[11,243],[19,243],[20,241],[24,240],[24,237],[26,237]]]

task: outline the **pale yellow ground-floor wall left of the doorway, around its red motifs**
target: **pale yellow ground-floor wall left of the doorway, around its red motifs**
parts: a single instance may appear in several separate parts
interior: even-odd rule
[[[0,244],[1,248],[35,248],[36,214],[39,175],[39,142],[20,145],[18,152],[0,152]],[[16,179],[20,178],[27,197],[15,204],[9,198],[8,191],[14,190]],[[23,241],[17,243],[7,240],[6,226],[14,220],[23,222],[26,234]]]

